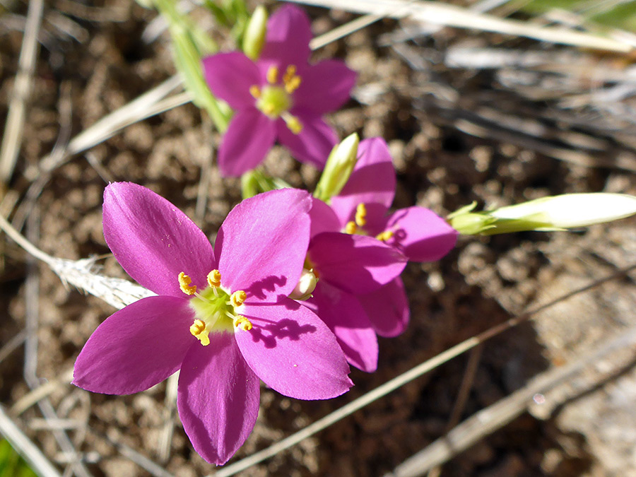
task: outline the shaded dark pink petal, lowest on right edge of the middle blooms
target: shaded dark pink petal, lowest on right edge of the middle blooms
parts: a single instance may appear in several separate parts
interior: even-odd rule
[[[359,295],[358,300],[379,336],[393,338],[406,329],[411,314],[401,278],[396,278],[375,292]]]

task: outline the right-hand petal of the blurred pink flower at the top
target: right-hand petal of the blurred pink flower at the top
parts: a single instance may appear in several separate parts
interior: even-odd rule
[[[320,115],[335,111],[351,98],[355,77],[354,71],[335,59],[309,66],[294,92],[294,105]]]

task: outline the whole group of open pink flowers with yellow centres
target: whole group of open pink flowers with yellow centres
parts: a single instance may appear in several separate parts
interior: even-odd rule
[[[355,74],[310,65],[310,24],[295,6],[268,23],[257,61],[204,60],[213,92],[235,109],[218,158],[225,175],[255,167],[278,138],[324,166],[336,134],[322,114],[343,104]],[[390,211],[396,177],[384,140],[360,143],[348,182],[329,204],[298,189],[245,199],[215,245],[151,190],[117,182],[103,228],[124,270],[155,293],[115,312],[79,354],[73,384],[104,394],[148,389],[179,371],[184,430],[206,461],[225,464],[259,412],[260,382],[297,399],[330,399],[353,385],[348,363],[376,370],[377,335],[409,320],[399,278],[407,261],[434,261],[457,232],[432,211]],[[305,276],[312,286],[298,295]]]

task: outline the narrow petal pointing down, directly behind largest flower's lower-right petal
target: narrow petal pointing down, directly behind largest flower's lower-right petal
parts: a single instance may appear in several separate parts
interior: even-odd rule
[[[324,281],[303,302],[334,332],[348,362],[365,372],[377,369],[377,336],[358,298]]]

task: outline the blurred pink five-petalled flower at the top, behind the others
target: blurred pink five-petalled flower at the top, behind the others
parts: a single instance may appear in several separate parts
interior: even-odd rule
[[[223,175],[254,169],[277,138],[298,160],[324,167],[337,138],[321,117],[348,100],[355,73],[336,60],[310,65],[311,38],[305,12],[285,5],[269,18],[258,61],[241,52],[204,58],[208,86],[236,111],[218,150]]]

